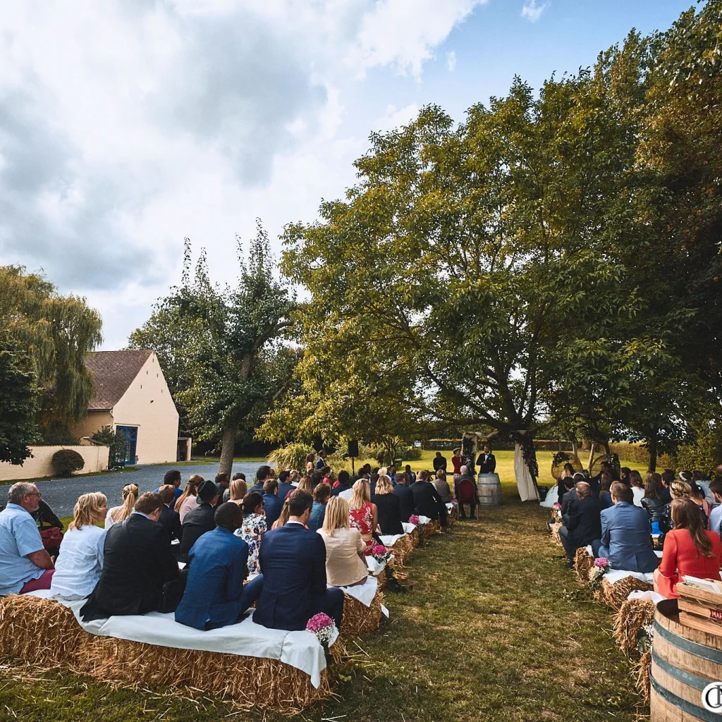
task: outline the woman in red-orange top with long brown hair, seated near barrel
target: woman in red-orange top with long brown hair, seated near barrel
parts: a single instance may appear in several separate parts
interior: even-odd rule
[[[677,583],[684,576],[720,579],[722,542],[719,534],[704,528],[691,499],[673,500],[671,516],[674,529],[664,537],[662,560],[654,571],[654,591],[677,599]]]

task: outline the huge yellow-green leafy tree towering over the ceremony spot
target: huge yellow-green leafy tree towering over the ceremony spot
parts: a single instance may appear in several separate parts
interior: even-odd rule
[[[516,79],[458,127],[425,108],[371,137],[357,185],[320,222],[287,228],[284,270],[311,295],[304,363],[326,370],[325,388],[304,378],[309,414],[363,387],[363,365],[344,360],[370,355],[425,418],[533,448],[570,318],[630,308],[608,248],[631,235],[617,210],[634,147],[608,83],[582,72],[535,97]]]

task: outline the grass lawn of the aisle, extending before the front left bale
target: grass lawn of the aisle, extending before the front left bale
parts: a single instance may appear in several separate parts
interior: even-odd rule
[[[538,506],[507,497],[482,510],[481,521],[458,523],[416,549],[413,590],[387,596],[392,621],[357,640],[360,661],[340,672],[345,680],[336,672],[339,698],[292,719],[632,722],[639,698],[609,633],[611,614],[578,591],[554,558],[561,549],[545,533],[546,519]],[[73,674],[19,674],[4,664],[2,719],[288,719],[262,710],[230,716],[229,705],[201,695],[193,703],[110,690]]]

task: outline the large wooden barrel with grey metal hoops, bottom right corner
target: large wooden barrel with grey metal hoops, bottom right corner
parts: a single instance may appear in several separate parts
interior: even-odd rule
[[[651,722],[720,722],[722,716],[702,703],[702,690],[720,680],[722,636],[687,627],[679,614],[657,609],[649,670]]]

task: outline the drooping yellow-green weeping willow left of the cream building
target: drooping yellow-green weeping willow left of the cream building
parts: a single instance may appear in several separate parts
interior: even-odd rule
[[[103,321],[84,298],[64,296],[22,266],[0,267],[3,334],[30,357],[40,391],[38,425],[45,440],[65,440],[71,422],[87,412],[93,393],[85,359],[103,336]]]

